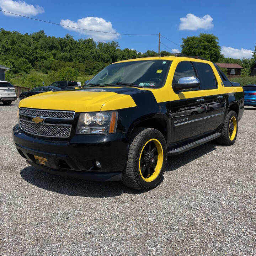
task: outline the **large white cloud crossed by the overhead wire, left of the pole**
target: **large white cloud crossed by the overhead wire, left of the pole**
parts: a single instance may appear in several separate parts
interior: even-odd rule
[[[85,28],[88,30],[117,33],[117,31],[114,28],[112,28],[112,24],[110,21],[107,22],[103,18],[97,18],[97,17],[81,18],[77,22],[71,21],[71,20],[61,20],[60,25]],[[95,41],[109,41],[109,40],[117,39],[120,36],[119,34],[100,33],[100,32],[80,30],[77,28],[69,28],[69,27],[64,27],[64,28],[66,28],[67,30],[79,32],[80,34],[88,35],[89,37],[93,38]]]

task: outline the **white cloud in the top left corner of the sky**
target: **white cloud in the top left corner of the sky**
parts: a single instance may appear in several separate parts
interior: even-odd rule
[[[44,12],[43,7],[37,5],[36,7],[30,4],[27,4],[24,1],[12,1],[12,0],[0,0],[0,7],[3,11],[13,12],[15,14],[25,15],[25,16],[35,16]],[[6,16],[15,16],[3,12]]]

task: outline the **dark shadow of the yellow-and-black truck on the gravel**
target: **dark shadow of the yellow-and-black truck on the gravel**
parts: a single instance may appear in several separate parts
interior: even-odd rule
[[[168,157],[166,171],[175,171],[189,162],[215,150],[214,142],[209,142],[177,156]],[[23,180],[44,190],[81,197],[115,197],[123,193],[140,194],[144,192],[125,187],[122,182],[96,182],[62,177],[37,170],[32,166],[20,172]]]

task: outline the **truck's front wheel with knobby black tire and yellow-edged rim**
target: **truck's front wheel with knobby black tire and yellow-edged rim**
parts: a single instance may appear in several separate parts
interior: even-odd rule
[[[153,147],[152,150],[151,147]],[[154,155],[146,155],[152,152]],[[145,161],[145,159],[147,160]],[[123,171],[122,182],[127,187],[135,190],[149,190],[162,180],[166,162],[167,148],[162,133],[153,128],[135,129],[132,134],[127,166]],[[143,175],[147,176],[144,177]]]

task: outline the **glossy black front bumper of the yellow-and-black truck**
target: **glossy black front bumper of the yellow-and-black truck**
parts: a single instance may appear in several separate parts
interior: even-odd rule
[[[127,133],[75,135],[69,140],[57,140],[29,135],[16,125],[13,140],[20,155],[40,170],[96,181],[121,180],[129,149]],[[45,165],[38,164],[34,156],[47,159]],[[100,169],[95,161],[100,162]]]

